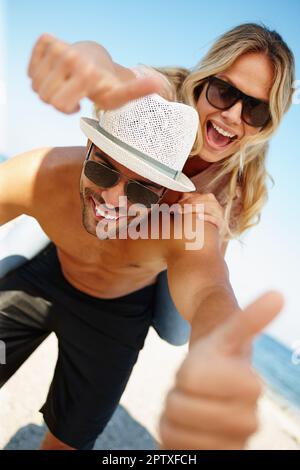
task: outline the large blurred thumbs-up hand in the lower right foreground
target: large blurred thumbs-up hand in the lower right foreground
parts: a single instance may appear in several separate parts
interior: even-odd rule
[[[261,384],[247,359],[254,337],[283,305],[269,292],[195,340],[160,420],[163,449],[242,449],[257,429]]]

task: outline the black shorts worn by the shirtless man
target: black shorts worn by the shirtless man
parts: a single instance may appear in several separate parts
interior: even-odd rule
[[[0,280],[0,340],[6,364],[0,386],[54,331],[59,354],[45,404],[50,431],[91,449],[114,413],[151,324],[154,286],[98,299],[64,278],[49,244]]]

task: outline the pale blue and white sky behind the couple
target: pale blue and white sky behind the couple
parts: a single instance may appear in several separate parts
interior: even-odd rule
[[[26,67],[31,48],[43,32],[70,42],[101,42],[123,65],[144,62],[189,67],[227,29],[248,21],[264,22],[278,30],[293,50],[296,78],[300,79],[298,0],[247,4],[233,0],[0,0],[0,5],[8,88],[7,132],[0,151],[8,155],[38,146],[84,144],[78,126],[80,114],[61,115],[41,103],[30,89]],[[89,114],[90,109],[85,101],[82,114]],[[245,237],[243,247],[234,242],[228,253],[233,287],[242,305],[266,288],[283,291],[286,308],[271,331],[289,344],[300,339],[299,124],[300,105],[293,105],[271,142],[268,169],[276,185],[262,222]]]

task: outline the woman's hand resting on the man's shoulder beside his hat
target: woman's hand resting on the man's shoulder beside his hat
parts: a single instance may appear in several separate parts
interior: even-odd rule
[[[204,221],[215,225],[221,234],[225,227],[224,209],[214,194],[183,193],[178,201],[184,213],[198,213]],[[197,204],[201,204],[197,208]],[[203,210],[203,206],[204,210]]]

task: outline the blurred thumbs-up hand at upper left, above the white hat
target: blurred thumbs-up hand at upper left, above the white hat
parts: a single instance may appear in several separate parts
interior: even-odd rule
[[[130,69],[115,64],[95,42],[70,45],[49,34],[36,42],[28,75],[39,97],[66,114],[79,111],[80,100],[85,97],[107,110],[163,87],[158,77],[136,78]]]

